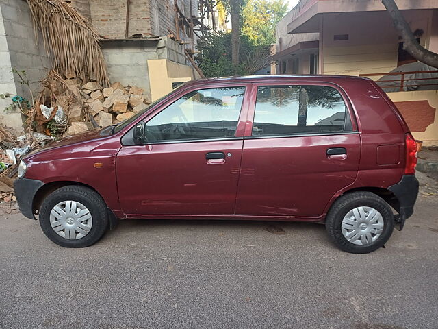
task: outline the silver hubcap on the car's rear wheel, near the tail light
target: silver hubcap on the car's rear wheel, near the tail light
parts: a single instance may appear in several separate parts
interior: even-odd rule
[[[355,245],[370,245],[383,232],[383,217],[371,207],[357,207],[342,219],[341,230],[345,239]]]

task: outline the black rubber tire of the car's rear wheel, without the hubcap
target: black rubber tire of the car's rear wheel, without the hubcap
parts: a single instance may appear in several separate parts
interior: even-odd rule
[[[349,242],[342,234],[341,224],[344,216],[357,207],[368,206],[378,210],[383,218],[383,231],[376,241],[368,245],[356,245]],[[371,192],[352,192],[339,197],[331,206],[326,217],[326,230],[333,243],[344,252],[367,254],[383,247],[394,230],[394,215],[385,200]]]

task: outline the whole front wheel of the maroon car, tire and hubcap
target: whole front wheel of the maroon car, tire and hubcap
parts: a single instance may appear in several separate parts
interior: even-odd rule
[[[62,247],[88,247],[99,241],[108,227],[102,197],[84,186],[64,186],[49,194],[40,207],[40,226]]]

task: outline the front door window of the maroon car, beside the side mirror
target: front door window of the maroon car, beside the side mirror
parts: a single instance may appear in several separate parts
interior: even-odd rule
[[[188,93],[146,123],[146,141],[233,137],[244,93],[244,86],[209,88]]]

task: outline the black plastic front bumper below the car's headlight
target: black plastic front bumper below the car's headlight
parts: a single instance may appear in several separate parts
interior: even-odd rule
[[[14,193],[18,208],[29,219],[36,219],[33,210],[34,197],[42,185],[44,183],[40,180],[29,180],[24,177],[18,178],[14,182]]]

